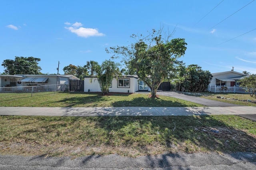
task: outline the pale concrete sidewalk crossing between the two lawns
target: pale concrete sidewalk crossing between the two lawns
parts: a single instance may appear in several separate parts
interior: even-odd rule
[[[0,115],[165,116],[254,115],[256,107],[0,107]]]

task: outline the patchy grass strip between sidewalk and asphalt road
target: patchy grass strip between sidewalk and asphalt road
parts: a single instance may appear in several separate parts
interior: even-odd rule
[[[236,115],[0,116],[0,154],[136,157],[164,152],[256,152],[255,137],[256,122]]]

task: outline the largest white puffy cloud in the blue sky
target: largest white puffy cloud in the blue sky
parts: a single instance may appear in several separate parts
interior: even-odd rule
[[[65,27],[68,29],[70,32],[75,33],[78,37],[91,37],[91,36],[104,36],[104,33],[99,33],[97,29],[94,28],[74,28],[74,27]]]

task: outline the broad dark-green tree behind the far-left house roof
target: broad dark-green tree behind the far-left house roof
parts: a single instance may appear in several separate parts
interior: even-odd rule
[[[2,66],[6,68],[4,74],[41,74],[42,68],[38,66],[39,58],[15,57],[14,60],[6,59]]]

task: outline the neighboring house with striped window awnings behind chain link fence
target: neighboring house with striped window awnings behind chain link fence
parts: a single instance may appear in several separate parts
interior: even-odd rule
[[[20,87],[20,86],[43,86],[47,85],[48,90],[52,90],[54,84],[69,84],[69,80],[79,80],[73,75],[60,74],[1,74],[0,87]],[[62,87],[63,88],[63,87]],[[58,90],[63,90],[63,89]]]

